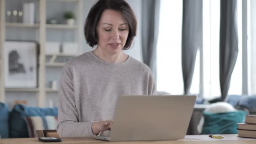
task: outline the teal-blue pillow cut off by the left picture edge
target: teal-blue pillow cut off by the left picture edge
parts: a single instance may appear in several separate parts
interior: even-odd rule
[[[6,104],[0,102],[0,135],[2,139],[9,137],[8,121],[9,109]]]

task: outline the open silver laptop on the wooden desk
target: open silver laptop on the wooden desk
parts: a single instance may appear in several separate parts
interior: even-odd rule
[[[105,141],[184,139],[196,96],[119,96]]]

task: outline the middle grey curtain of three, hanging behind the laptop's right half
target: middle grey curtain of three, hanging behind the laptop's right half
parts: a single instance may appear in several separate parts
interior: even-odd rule
[[[203,1],[183,0],[182,72],[184,94],[189,94],[195,67],[197,48],[203,43]]]

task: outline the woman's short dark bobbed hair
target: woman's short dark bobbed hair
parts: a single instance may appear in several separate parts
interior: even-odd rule
[[[131,6],[125,0],[98,0],[91,8],[85,20],[84,35],[87,43],[93,47],[98,44],[97,24],[104,10],[111,9],[120,11],[129,27],[129,34],[123,47],[127,50],[131,47],[133,38],[136,36],[137,20]]]

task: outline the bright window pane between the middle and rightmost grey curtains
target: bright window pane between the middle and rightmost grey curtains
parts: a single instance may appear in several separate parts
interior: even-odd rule
[[[221,95],[219,84],[220,1],[203,1],[203,93],[212,99]]]

